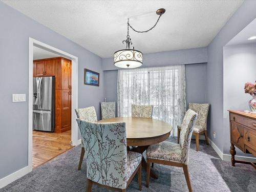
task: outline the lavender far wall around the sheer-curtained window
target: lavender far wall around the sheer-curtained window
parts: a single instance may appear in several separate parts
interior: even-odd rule
[[[185,49],[143,55],[143,67],[157,67],[169,65],[185,65],[186,103],[206,102],[206,62],[207,48]],[[102,60],[105,77],[104,97],[107,101],[117,102],[117,70],[113,65],[113,58]]]

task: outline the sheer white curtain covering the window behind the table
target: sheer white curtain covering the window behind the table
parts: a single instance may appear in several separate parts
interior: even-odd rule
[[[184,65],[118,70],[117,92],[118,117],[131,116],[132,104],[151,104],[152,118],[170,123],[177,136],[186,112]]]

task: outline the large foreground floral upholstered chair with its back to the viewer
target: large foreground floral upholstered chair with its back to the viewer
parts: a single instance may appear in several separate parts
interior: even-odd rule
[[[93,184],[126,191],[136,173],[141,190],[142,154],[126,150],[125,123],[77,123],[86,150],[87,191]]]

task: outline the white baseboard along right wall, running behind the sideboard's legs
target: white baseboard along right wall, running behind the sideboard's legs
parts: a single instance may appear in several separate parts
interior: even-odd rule
[[[224,160],[224,161],[230,161],[231,159],[231,155],[229,154],[223,154],[221,152],[221,150],[218,148],[218,146],[212,142],[212,140],[210,140],[208,138],[208,141],[209,141],[209,144],[210,146],[212,146],[212,148],[214,148],[214,151],[219,155],[219,157]],[[235,156],[235,159],[238,160],[238,161],[247,161],[247,162],[256,162],[256,158],[254,157],[243,157],[243,156]]]

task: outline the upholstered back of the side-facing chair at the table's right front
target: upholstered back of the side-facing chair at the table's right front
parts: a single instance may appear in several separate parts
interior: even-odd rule
[[[193,133],[193,126],[197,118],[197,113],[192,110],[187,110],[183,119],[180,131],[180,146],[182,151],[182,162],[188,164],[188,149]]]

